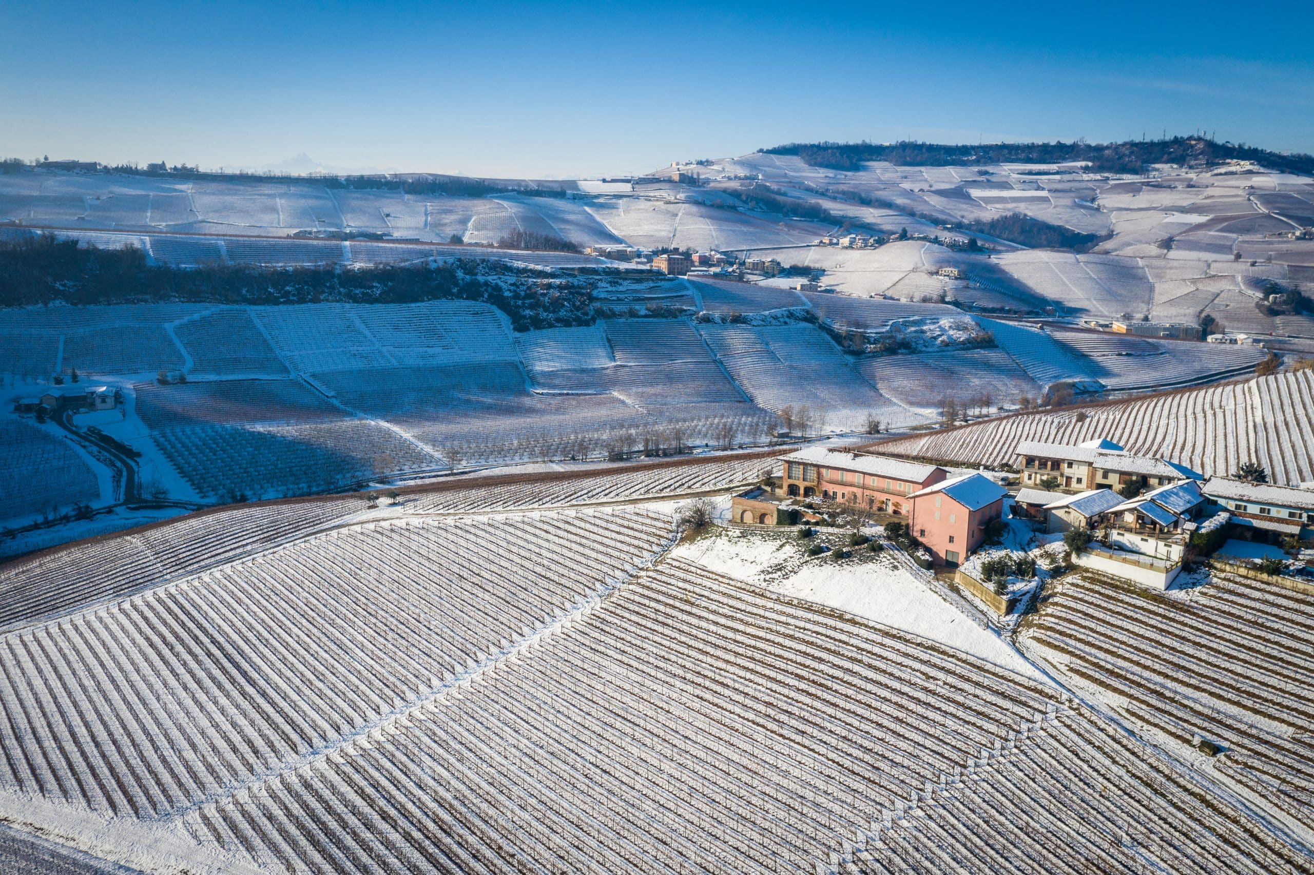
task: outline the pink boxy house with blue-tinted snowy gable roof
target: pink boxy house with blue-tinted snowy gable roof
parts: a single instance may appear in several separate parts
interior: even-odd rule
[[[941,480],[913,493],[909,528],[937,565],[958,565],[986,541],[986,527],[1004,515],[1003,486],[980,474]]]

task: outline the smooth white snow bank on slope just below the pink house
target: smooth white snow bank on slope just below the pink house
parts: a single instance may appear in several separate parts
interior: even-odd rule
[[[673,556],[782,595],[827,604],[938,641],[1004,669],[1037,671],[992,632],[980,628],[887,556],[834,562],[805,557],[808,541],[784,532],[719,528],[679,544]],[[854,556],[861,556],[854,550]]]

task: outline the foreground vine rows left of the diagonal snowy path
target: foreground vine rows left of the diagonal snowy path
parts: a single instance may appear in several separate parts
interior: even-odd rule
[[[442,702],[670,537],[643,510],[376,523],[11,632],[0,784],[135,817],[246,796]]]

